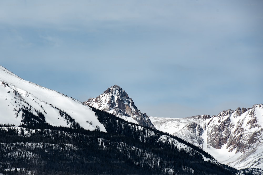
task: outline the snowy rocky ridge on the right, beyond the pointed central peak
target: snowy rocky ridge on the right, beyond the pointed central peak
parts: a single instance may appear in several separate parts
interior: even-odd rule
[[[154,126],[178,136],[237,169],[263,169],[263,105],[226,110],[217,116],[149,117]]]

